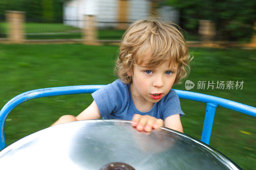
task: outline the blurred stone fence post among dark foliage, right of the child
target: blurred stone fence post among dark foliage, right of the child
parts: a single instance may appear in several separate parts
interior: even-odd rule
[[[202,41],[211,41],[216,35],[215,24],[211,20],[199,20],[198,33]]]

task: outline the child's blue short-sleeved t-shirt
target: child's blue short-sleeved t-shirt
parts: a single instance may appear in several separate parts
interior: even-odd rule
[[[132,120],[134,114],[140,114],[164,120],[171,115],[184,115],[180,108],[179,97],[173,89],[156,102],[151,110],[140,112],[133,103],[130,84],[125,84],[120,79],[93,92],[92,98],[103,119]]]

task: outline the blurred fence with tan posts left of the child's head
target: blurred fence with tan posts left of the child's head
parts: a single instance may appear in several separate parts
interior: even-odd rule
[[[25,19],[22,12],[8,11],[6,18],[0,18],[0,38],[12,42],[29,40],[80,40],[80,41],[120,41],[124,33],[118,25],[128,26],[132,22],[97,20],[85,15],[79,19],[31,20]]]

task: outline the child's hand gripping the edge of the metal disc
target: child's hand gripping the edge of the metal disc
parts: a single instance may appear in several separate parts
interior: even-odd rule
[[[139,115],[134,114],[132,116],[132,126],[140,131],[151,132],[152,128],[158,129],[161,126],[164,126],[164,121],[162,119],[156,119],[155,117],[149,115]]]

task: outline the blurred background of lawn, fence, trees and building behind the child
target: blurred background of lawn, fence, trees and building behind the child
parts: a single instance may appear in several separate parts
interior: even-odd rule
[[[184,82],[244,81],[242,89],[189,91],[256,107],[254,0],[1,0],[0,108],[29,90],[112,83],[125,29],[149,16],[182,28],[194,56]],[[186,90],[184,82],[173,88]],[[90,94],[76,94],[22,103],[7,117],[6,143],[49,127],[61,115],[78,115],[91,102]],[[206,105],[180,103],[184,133],[200,139]],[[210,146],[255,169],[255,118],[218,107]]]

